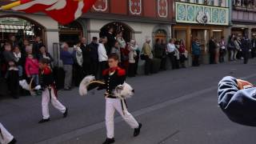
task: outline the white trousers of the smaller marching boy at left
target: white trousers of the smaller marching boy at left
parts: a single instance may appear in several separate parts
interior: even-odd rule
[[[51,93],[51,97],[50,97]],[[50,101],[51,99],[51,101]],[[46,88],[46,90],[42,91],[42,118],[48,119],[50,118],[49,114],[49,102],[59,111],[62,112],[62,114],[65,113],[66,107],[62,105],[61,102],[58,101],[56,98],[56,95],[54,94],[54,89],[49,90]]]

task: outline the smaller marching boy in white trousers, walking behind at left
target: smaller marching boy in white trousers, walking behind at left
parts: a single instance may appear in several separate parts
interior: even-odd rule
[[[50,66],[49,60],[42,58],[39,62],[40,74],[40,86],[42,88],[42,120],[38,123],[49,122],[49,102],[63,114],[63,118],[66,118],[68,109],[58,101],[56,97],[57,91],[54,86],[54,76]]]

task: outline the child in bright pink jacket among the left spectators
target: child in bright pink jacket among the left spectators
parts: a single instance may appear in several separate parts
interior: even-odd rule
[[[38,86],[39,84],[39,66],[38,66],[38,59],[34,58],[33,54],[28,54],[26,58],[25,64],[26,76],[28,78],[34,79],[34,84]]]

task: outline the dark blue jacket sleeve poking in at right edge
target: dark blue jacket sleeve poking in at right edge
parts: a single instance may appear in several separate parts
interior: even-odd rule
[[[256,126],[256,88],[238,90],[236,78],[225,77],[218,84],[218,105],[231,121]]]

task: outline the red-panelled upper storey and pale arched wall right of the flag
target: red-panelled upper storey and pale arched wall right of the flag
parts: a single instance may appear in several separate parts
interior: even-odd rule
[[[111,26],[123,31],[126,42],[135,39],[142,46],[146,37],[171,37],[172,11],[172,0],[97,0],[82,20],[88,38]]]

